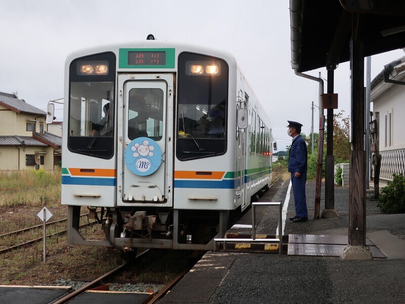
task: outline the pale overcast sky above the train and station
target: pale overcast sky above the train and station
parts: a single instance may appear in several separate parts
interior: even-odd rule
[[[145,40],[184,42],[232,53],[273,124],[279,150],[291,143],[287,120],[311,131],[311,102],[318,83],[291,68],[289,1],[1,0],[0,91],[46,110],[63,97],[64,62],[73,51],[104,44]],[[395,50],[372,57],[373,79],[404,56]],[[307,72],[327,78],[326,69]],[[325,83],[326,92],[326,83]],[[335,71],[339,109],[350,113],[349,63]],[[62,106],[56,106],[62,121]],[[318,127],[314,111],[314,132]]]

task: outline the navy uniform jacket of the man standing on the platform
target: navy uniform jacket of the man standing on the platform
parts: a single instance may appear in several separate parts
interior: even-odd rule
[[[293,138],[290,147],[288,172],[299,172],[306,175],[307,167],[307,145],[301,135],[297,135]]]

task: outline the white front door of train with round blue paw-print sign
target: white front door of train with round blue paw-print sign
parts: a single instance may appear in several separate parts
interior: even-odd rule
[[[118,90],[118,206],[172,206],[173,74],[119,75]]]

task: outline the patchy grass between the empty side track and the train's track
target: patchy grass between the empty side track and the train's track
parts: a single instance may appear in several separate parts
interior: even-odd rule
[[[95,226],[87,230],[94,233]],[[38,242],[0,255],[0,284],[50,285],[61,278],[94,279],[120,262],[118,252],[109,252],[105,247],[68,245],[63,234],[47,238],[44,264],[43,244]]]

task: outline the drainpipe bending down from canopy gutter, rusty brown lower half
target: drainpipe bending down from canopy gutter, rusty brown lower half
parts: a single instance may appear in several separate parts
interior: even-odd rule
[[[297,76],[303,77],[309,80],[317,81],[319,83],[319,100],[321,100],[321,95],[323,94],[323,80],[313,77],[311,75],[303,74],[296,69],[294,72]],[[322,182],[322,161],[323,161],[323,134],[325,133],[325,115],[323,115],[323,105],[319,102],[319,139],[318,139],[318,162],[316,166],[316,184],[315,184],[315,207],[313,218],[319,218],[320,214],[320,189]],[[313,134],[312,134],[313,136]]]

